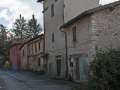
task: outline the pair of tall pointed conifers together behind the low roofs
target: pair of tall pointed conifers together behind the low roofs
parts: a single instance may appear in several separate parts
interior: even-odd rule
[[[38,35],[41,30],[42,28],[40,24],[37,23],[37,19],[34,15],[32,15],[32,19],[28,22],[20,15],[14,23],[12,32],[15,34],[14,37],[17,39],[27,39]]]

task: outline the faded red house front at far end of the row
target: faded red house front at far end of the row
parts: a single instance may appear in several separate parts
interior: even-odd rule
[[[10,50],[9,51],[10,52],[9,53],[10,54],[10,56],[9,56],[10,63],[12,65],[12,69],[15,71],[20,70],[21,62],[20,62],[20,50],[19,50],[19,48],[20,48],[21,44],[22,44],[21,42],[14,40],[12,42],[10,49],[9,49]]]

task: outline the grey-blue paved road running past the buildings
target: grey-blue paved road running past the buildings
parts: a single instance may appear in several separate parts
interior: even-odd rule
[[[0,78],[5,81],[7,90],[71,90],[74,86],[67,81],[51,80],[30,72],[16,73],[0,70]],[[3,82],[2,80],[0,82]],[[3,89],[0,90],[6,90],[5,85],[2,86]]]

